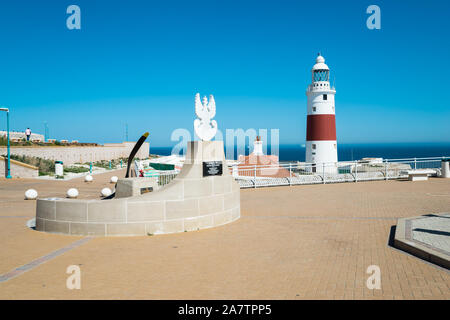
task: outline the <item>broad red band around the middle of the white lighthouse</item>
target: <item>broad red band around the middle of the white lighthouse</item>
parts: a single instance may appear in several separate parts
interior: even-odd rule
[[[308,115],[307,141],[336,140],[336,117],[334,114]]]

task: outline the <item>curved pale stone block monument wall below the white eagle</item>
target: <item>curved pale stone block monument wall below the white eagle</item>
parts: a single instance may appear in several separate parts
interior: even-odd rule
[[[223,161],[223,175],[203,177],[203,161]],[[240,189],[221,141],[190,142],[180,174],[165,187],[112,200],[38,199],[36,229],[71,235],[135,236],[193,231],[240,217]]]

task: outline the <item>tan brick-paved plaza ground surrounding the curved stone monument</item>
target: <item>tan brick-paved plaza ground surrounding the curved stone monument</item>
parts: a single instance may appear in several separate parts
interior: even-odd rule
[[[98,199],[112,175],[123,172],[91,184],[0,179],[0,299],[450,299],[448,270],[389,245],[399,218],[450,211],[450,179],[241,190],[236,222],[172,235],[83,238],[26,226],[36,202],[25,190],[64,197],[76,187]],[[427,223],[440,232],[417,224],[414,238],[448,245],[438,219]],[[80,267],[80,290],[66,287],[70,265]],[[371,265],[380,290],[366,286]]]

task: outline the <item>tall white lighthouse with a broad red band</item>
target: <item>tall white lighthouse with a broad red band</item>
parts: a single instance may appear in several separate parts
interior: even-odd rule
[[[312,167],[314,172],[336,172],[336,164],[332,164],[338,161],[334,105],[336,90],[330,86],[330,69],[320,53],[311,72],[312,83],[306,90],[306,162],[315,164]]]

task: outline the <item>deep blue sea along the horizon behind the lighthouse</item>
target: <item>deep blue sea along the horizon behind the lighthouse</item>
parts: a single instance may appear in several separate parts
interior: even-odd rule
[[[252,151],[248,146],[245,154]],[[305,146],[298,144],[279,145],[279,161],[305,161]],[[233,153],[227,152],[227,159],[237,158],[237,147]],[[150,147],[150,153],[155,155],[170,155],[172,147]],[[271,154],[270,145],[267,154]],[[428,157],[450,157],[450,142],[447,143],[358,143],[338,144],[339,161],[352,161],[361,158],[374,157],[383,159],[407,159]]]

